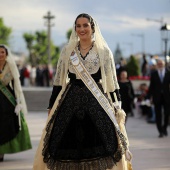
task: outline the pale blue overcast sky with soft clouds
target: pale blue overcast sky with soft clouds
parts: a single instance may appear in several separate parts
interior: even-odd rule
[[[164,49],[161,45],[163,44],[160,33],[161,21],[170,24],[170,0],[0,0],[0,2],[0,17],[4,19],[6,26],[13,29],[11,48],[21,52],[26,52],[23,33],[47,30],[43,16],[48,11],[55,16],[51,29],[51,38],[55,45],[60,46],[66,42],[66,32],[72,27],[78,14],[88,13],[98,22],[111,50],[114,52],[119,44],[124,56],[141,51],[160,53]]]

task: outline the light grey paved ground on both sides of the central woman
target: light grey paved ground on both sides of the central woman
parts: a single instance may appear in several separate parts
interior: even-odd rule
[[[46,122],[46,112],[29,112],[27,122],[33,149],[5,155],[0,170],[31,170],[35,151]],[[155,124],[145,118],[130,117],[127,122],[130,150],[133,153],[134,170],[170,170],[170,135],[158,138]],[[169,126],[170,134],[170,126]]]

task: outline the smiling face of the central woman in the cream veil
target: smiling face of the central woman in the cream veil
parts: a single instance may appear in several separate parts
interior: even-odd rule
[[[91,39],[93,30],[91,24],[87,18],[78,18],[76,21],[76,33],[79,36],[80,40]]]

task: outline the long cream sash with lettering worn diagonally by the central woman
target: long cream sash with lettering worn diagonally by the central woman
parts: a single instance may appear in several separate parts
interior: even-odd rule
[[[70,56],[71,62],[73,64],[73,67],[76,71],[76,73],[79,75],[81,80],[84,82],[86,87],[91,91],[91,93],[94,95],[94,97],[97,99],[99,104],[102,106],[102,108],[105,110],[111,121],[113,122],[116,132],[120,138],[121,144],[123,148],[125,149],[125,156],[128,161],[131,160],[131,155],[129,156],[129,152],[127,153],[126,151],[129,151],[127,143],[126,143],[126,138],[125,136],[121,133],[120,127],[116,121],[115,118],[115,112],[112,106],[110,105],[108,99],[104,96],[104,94],[101,92],[99,89],[98,85],[94,81],[94,79],[91,77],[91,75],[88,73],[82,62],[79,60],[79,57],[75,52],[73,52]],[[128,156],[130,157],[129,159],[127,158]]]

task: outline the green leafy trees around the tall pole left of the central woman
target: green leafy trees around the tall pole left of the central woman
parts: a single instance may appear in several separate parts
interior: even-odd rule
[[[27,49],[29,51],[29,61],[32,65],[48,64],[48,39],[45,31],[36,31],[34,34],[25,33],[23,35]],[[59,48],[56,47],[53,42],[50,42],[51,51],[51,63],[56,65],[59,56]]]

